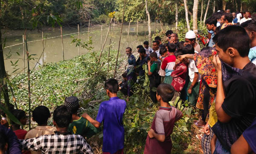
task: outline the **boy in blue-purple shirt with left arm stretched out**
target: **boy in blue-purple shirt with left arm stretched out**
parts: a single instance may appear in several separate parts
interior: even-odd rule
[[[125,138],[122,117],[125,112],[126,102],[117,97],[119,87],[116,79],[108,79],[105,82],[105,89],[110,99],[100,104],[96,120],[87,115],[87,113],[84,113],[82,117],[89,120],[96,128],[99,128],[102,121],[104,121],[103,154],[122,154]]]

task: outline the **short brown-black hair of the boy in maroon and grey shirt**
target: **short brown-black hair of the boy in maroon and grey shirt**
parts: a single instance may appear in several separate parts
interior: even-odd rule
[[[166,103],[169,103],[169,101],[172,101],[174,92],[175,90],[171,84],[160,84],[157,87],[157,95],[160,95],[162,100]]]

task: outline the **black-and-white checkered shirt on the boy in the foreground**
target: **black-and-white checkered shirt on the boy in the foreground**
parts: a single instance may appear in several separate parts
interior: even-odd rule
[[[20,140],[24,150],[40,150],[44,154],[93,154],[93,149],[81,135],[60,133]]]

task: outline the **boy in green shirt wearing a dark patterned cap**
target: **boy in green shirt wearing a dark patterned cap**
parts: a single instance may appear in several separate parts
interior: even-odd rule
[[[94,134],[98,133],[99,130],[96,129],[88,120],[79,117],[77,111],[79,109],[79,100],[75,96],[70,96],[65,98],[64,106],[67,106],[71,109],[72,120],[68,126],[68,131],[73,134],[79,134],[87,139],[92,137]]]

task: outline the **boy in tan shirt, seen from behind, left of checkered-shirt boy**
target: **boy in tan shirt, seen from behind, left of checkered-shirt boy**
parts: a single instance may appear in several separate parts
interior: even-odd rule
[[[47,126],[48,118],[51,117],[51,113],[46,106],[37,106],[32,112],[32,120],[38,123],[38,126],[35,129],[30,130],[25,139],[34,138],[41,135],[50,135],[54,134],[56,127]],[[31,151],[31,154],[41,154],[40,151]]]

